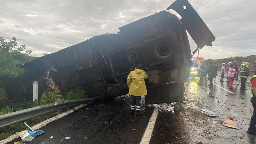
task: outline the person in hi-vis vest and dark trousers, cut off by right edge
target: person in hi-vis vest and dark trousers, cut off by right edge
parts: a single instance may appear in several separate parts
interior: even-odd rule
[[[255,63],[256,66],[256,61],[253,62],[253,65]],[[254,67],[255,69],[256,67]],[[253,76],[251,78],[251,102],[252,102],[252,107],[253,107],[253,114],[250,122],[250,126],[247,130],[247,133],[250,135],[256,135],[256,71],[253,71]]]

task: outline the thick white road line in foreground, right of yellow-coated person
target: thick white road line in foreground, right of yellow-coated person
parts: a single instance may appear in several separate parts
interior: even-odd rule
[[[150,120],[148,122],[148,126],[145,130],[145,133],[143,134],[143,137],[140,141],[140,144],[148,144],[150,142],[150,138],[151,138],[151,135],[152,135],[155,123],[156,123],[157,114],[158,114],[158,109],[155,107],[154,111],[150,117]]]

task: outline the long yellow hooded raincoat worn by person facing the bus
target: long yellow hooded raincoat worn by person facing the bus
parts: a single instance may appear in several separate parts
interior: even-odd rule
[[[143,96],[147,95],[147,88],[145,84],[145,79],[148,75],[143,69],[137,69],[131,71],[127,77],[127,85],[129,89],[129,95]]]

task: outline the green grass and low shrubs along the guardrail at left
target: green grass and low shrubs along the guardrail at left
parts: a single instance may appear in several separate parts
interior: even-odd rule
[[[8,102],[1,103],[2,108],[0,108],[0,115],[8,114],[8,113],[19,111],[22,109],[33,108],[39,105],[53,103],[55,102],[56,95],[57,95],[56,92],[43,92],[40,98],[40,102],[20,101],[20,102],[14,102],[14,103],[8,103]],[[75,99],[84,99],[84,98],[88,98],[88,95],[86,94],[86,92],[84,92],[84,90],[81,87],[76,88],[74,91],[71,90],[64,96],[64,100],[75,100]],[[27,119],[25,122],[29,126],[33,126],[48,118],[55,116],[56,115],[55,113],[56,112],[50,112],[44,115],[36,116],[30,119]],[[0,140],[6,139],[9,136],[15,134],[16,132],[20,132],[26,129],[28,128],[25,124],[23,124],[23,122],[11,124],[9,126],[0,128]]]

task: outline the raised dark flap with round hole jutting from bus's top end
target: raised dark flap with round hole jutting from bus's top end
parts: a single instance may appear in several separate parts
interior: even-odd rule
[[[214,35],[188,0],[177,0],[166,10],[170,9],[180,14],[182,17],[180,21],[196,42],[197,48],[201,49],[204,45],[212,46],[212,41],[215,40]]]

